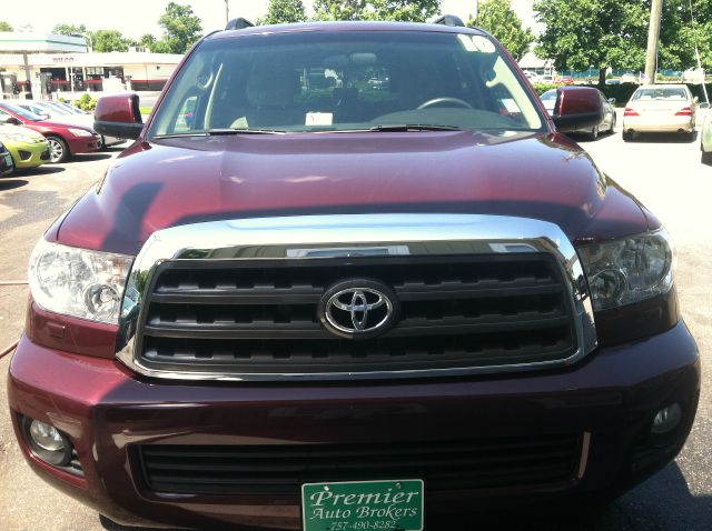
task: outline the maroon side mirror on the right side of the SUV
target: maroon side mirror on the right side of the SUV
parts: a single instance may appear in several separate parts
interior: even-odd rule
[[[600,126],[603,103],[596,89],[590,87],[560,87],[552,118],[560,132],[571,132]]]

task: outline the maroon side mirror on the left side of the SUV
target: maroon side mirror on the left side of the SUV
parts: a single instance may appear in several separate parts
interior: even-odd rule
[[[138,94],[127,92],[100,98],[93,112],[93,129],[105,137],[138,138],[144,129]]]

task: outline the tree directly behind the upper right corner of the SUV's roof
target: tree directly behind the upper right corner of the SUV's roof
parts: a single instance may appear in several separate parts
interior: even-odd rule
[[[476,26],[495,36],[517,61],[534,42],[534,33],[522,27],[522,20],[512,10],[511,0],[484,0],[477,9],[477,18],[471,18],[467,26]]]

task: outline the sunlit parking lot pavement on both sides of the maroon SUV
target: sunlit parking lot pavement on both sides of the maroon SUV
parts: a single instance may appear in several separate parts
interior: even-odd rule
[[[706,358],[712,349],[712,239],[706,227],[712,167],[700,162],[699,141],[682,142],[673,137],[624,143],[617,131],[582,146],[604,172],[643,201],[671,232],[676,244],[676,284],[683,313]],[[0,179],[0,282],[27,278],[27,261],[42,231],[101,178],[119,152],[113,149],[77,157],[66,164]],[[27,292],[26,285],[0,285],[0,349],[21,332]],[[0,360],[0,389],[4,389],[10,358]],[[711,370],[704,363],[698,419],[682,454],[610,508],[578,518],[524,511],[516,517],[473,521],[466,530],[709,530]],[[8,531],[101,529],[96,513],[47,485],[26,465],[12,435],[4,391],[0,391],[0,528]]]

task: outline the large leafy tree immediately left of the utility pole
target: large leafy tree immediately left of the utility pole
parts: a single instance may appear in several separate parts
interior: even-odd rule
[[[553,59],[557,70],[607,67],[637,69],[645,62],[647,11],[639,0],[536,0],[534,11],[545,26],[536,53]]]

